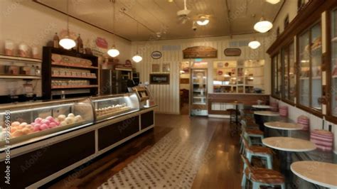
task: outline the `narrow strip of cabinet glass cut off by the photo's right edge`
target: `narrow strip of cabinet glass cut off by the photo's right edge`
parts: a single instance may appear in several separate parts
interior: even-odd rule
[[[331,11],[331,114],[337,117],[337,9]]]

